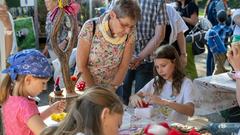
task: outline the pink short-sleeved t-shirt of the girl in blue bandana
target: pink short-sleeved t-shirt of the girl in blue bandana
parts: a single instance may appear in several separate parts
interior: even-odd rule
[[[36,102],[21,96],[9,96],[2,106],[6,135],[34,135],[28,128],[28,120],[38,115]]]

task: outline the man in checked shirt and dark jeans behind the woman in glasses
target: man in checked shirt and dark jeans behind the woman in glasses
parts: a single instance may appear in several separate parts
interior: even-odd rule
[[[141,19],[137,23],[135,55],[123,84],[124,103],[128,104],[132,82],[135,93],[153,78],[153,52],[165,37],[168,17],[165,0],[139,0]]]

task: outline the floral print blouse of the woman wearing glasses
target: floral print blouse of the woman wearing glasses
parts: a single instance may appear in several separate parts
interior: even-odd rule
[[[128,35],[127,41],[123,44],[111,44],[104,39],[99,30],[100,18],[94,18],[94,20],[96,25],[94,36],[93,19],[90,19],[83,25],[78,38],[86,39],[91,43],[88,68],[94,83],[104,87],[114,79],[122,61],[125,45],[132,41],[134,32]]]

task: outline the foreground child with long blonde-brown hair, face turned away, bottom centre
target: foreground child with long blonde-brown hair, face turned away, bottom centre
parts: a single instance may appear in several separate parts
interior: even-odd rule
[[[118,96],[94,87],[74,102],[59,126],[48,127],[41,135],[118,135],[122,116],[123,105]]]

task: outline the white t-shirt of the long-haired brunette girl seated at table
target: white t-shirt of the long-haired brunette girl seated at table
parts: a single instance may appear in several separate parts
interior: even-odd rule
[[[153,83],[154,79],[148,82],[139,92],[153,94],[154,93]],[[174,100],[175,102],[180,104],[193,103],[192,81],[188,78],[184,78],[180,94],[176,97],[172,96],[172,82],[166,81],[166,83],[163,85],[163,90],[160,93],[159,97],[161,99]],[[172,110],[172,112],[168,116],[168,119],[174,122],[185,124],[187,122],[188,116],[178,113],[175,110]]]

